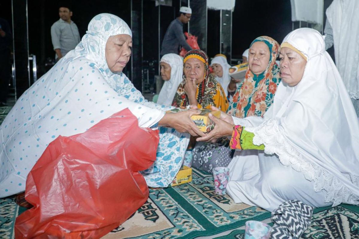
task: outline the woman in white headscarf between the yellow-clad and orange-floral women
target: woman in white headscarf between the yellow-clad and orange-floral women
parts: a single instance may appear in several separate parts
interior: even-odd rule
[[[216,74],[215,79],[224,89],[225,96],[228,96],[228,85],[230,82],[229,68],[230,64],[227,62],[227,57],[223,54],[216,54],[211,61],[211,67]]]

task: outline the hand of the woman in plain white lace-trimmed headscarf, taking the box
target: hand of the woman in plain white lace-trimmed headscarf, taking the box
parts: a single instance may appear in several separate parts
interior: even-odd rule
[[[225,115],[227,115],[227,114],[225,114]],[[222,113],[221,113],[221,116],[222,116]],[[233,124],[230,124],[223,119],[218,119],[217,117],[215,117],[212,114],[209,114],[209,118],[216,124],[214,126],[214,129],[211,130],[209,133],[206,133],[205,136],[197,138],[196,141],[216,142],[216,140],[219,138],[232,135],[233,126],[234,126]],[[230,117],[230,118],[232,118],[232,117]],[[227,116],[224,116],[224,119],[227,119]]]

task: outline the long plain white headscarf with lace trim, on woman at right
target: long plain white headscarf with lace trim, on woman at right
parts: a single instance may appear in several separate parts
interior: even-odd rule
[[[246,128],[265,153],[302,172],[326,202],[359,203],[359,122],[348,92],[322,35],[299,28],[283,40],[307,58],[303,78],[294,87],[283,81],[264,123]]]

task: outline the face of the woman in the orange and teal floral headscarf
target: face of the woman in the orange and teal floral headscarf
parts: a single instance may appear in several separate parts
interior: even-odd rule
[[[264,72],[269,64],[270,52],[264,42],[255,42],[249,49],[248,65],[253,74]]]

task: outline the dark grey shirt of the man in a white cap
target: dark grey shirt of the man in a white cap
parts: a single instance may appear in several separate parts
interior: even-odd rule
[[[169,24],[166,34],[164,35],[160,53],[161,56],[168,53],[178,54],[180,44],[187,51],[192,50],[183,34],[183,23],[176,18]]]

